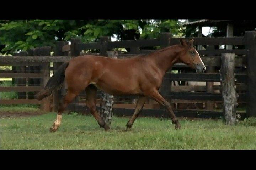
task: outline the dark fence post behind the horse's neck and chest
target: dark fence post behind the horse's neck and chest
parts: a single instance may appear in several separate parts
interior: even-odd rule
[[[168,47],[170,46],[170,39],[172,37],[172,34],[171,33],[161,33],[160,34],[160,48],[165,48],[165,47]],[[167,94],[168,92],[171,91],[171,79],[170,78],[170,73],[171,73],[171,70],[168,70],[165,75],[164,75],[164,80],[162,82],[162,85],[161,85],[161,94],[164,96],[165,94]],[[164,97],[170,104],[171,104],[171,98],[170,97]],[[160,106],[160,108],[165,108],[164,106]]]

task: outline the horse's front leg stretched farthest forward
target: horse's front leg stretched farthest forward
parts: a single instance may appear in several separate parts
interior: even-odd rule
[[[171,119],[172,119],[172,123],[175,124],[175,129],[179,129],[180,126],[180,122],[178,121],[178,119],[176,118],[174,112],[171,109],[171,105],[169,102],[167,102],[160,94],[157,90],[153,90],[152,92],[150,92],[149,94],[150,97],[152,97],[156,102],[162,104],[163,106],[166,107]]]

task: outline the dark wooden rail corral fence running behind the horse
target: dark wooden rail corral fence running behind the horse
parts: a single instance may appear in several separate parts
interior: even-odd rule
[[[174,113],[177,116],[216,118],[223,115],[222,107],[216,110],[216,104],[222,104],[222,94],[220,84],[220,66],[222,53],[235,54],[235,85],[238,93],[238,103],[245,104],[246,112],[239,112],[241,117],[256,116],[256,32],[245,32],[244,37],[228,38],[195,38],[194,45],[201,46],[198,50],[202,61],[207,67],[207,72],[196,74],[194,70],[185,64],[176,63],[164,77],[160,93],[172,103]],[[50,56],[51,47],[41,47],[30,50],[28,53],[16,54],[18,56],[0,56],[0,65],[16,66],[20,69],[9,72],[0,72],[0,78],[15,78],[18,82],[23,82],[23,86],[0,87],[0,91],[18,91],[20,96],[16,100],[0,100],[0,104],[41,104],[45,111],[56,111],[58,101],[65,95],[66,87],[55,92],[43,101],[33,98],[34,92],[39,91],[47,83],[50,72],[65,61],[79,55],[100,55],[106,56],[107,51],[117,48],[129,49],[127,53],[118,51],[118,58],[129,58],[141,54],[153,52],[145,50],[145,47],[166,47],[179,44],[179,38],[172,38],[170,33],[162,33],[158,39],[148,40],[126,40],[111,42],[110,37],[101,37],[98,42],[81,43],[80,39],[71,39],[68,42],[57,42],[54,55]],[[233,49],[220,49],[220,46],[233,46]],[[82,51],[98,49],[100,53],[84,53]],[[53,62],[53,65],[50,64]],[[131,66],[132,67],[132,66]],[[34,69],[32,69],[34,68]],[[124,68],[130,69],[130,68]],[[171,72],[171,71],[175,71]],[[15,80],[15,81],[16,81]],[[191,85],[190,82],[206,82],[205,85]],[[26,85],[25,85],[26,84]],[[217,92],[216,92],[217,91]],[[219,92],[218,92],[219,91]],[[31,97],[30,97],[31,96]],[[97,106],[99,106],[102,92],[98,91]],[[69,110],[87,112],[86,94],[82,92],[69,104]],[[135,108],[136,96],[114,96],[114,115],[132,115]],[[192,103],[195,108],[180,108],[184,104]],[[200,104],[202,104],[200,106]],[[186,105],[188,106],[188,105]],[[190,105],[191,106],[191,105]],[[149,100],[142,111],[144,116],[167,117],[165,109],[158,103]]]

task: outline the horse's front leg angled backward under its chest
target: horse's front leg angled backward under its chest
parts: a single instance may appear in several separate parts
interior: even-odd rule
[[[140,112],[142,111],[145,102],[146,102],[146,97],[145,96],[139,96],[139,98],[137,100],[137,104],[136,104],[134,114],[126,124],[127,128],[132,128],[132,125],[133,125],[135,119],[139,116]]]

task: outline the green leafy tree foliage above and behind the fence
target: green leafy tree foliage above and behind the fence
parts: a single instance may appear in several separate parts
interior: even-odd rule
[[[0,20],[0,50],[10,53],[54,47],[56,40],[75,37],[93,42],[100,36],[114,34],[119,40],[157,38],[161,32],[183,35],[177,20]]]

